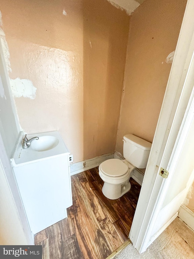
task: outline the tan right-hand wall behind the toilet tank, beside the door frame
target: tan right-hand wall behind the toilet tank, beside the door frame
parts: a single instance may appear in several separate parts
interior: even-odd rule
[[[132,133],[152,142],[186,0],[147,0],[132,13],[116,151]]]

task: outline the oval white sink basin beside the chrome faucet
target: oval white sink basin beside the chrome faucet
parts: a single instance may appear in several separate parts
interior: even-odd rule
[[[55,148],[59,144],[59,140],[54,136],[42,136],[31,142],[30,147],[35,151],[47,151]]]

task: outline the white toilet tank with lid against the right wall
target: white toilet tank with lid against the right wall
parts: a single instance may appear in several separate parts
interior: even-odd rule
[[[152,143],[128,134],[123,137],[123,156],[137,168],[146,168]]]

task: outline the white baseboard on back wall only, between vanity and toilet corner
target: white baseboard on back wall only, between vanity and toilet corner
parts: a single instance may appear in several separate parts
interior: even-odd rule
[[[114,158],[114,152],[74,163],[70,165],[71,176],[99,166],[102,162],[111,158]]]

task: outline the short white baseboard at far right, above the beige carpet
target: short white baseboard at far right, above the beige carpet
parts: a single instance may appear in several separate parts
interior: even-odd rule
[[[178,217],[194,231],[194,212],[182,204],[179,209]]]

